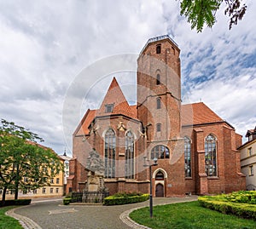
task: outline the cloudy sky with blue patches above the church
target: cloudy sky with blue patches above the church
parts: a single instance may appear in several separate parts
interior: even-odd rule
[[[231,31],[222,7],[216,25],[197,33],[180,16],[176,0],[2,0],[1,117],[71,155],[73,130],[87,108],[101,104],[113,76],[136,102],[134,71],[87,74],[82,81],[81,72],[116,55],[137,55],[148,38],[168,34],[181,49],[184,103],[205,102],[245,135],[256,125],[256,1],[243,2],[247,14]],[[75,83],[75,114],[63,118]]]

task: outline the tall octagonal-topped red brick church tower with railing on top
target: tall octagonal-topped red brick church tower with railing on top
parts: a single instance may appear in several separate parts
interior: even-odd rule
[[[154,170],[158,169],[165,180],[160,196],[183,190],[184,183],[179,54],[177,43],[166,35],[149,39],[137,60],[137,115],[146,134],[142,148],[148,158],[158,158],[159,166]],[[172,177],[172,172],[179,178]],[[167,183],[176,183],[176,188],[168,191]],[[156,183],[154,188],[157,196]]]

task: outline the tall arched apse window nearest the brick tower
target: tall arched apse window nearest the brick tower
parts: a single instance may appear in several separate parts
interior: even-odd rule
[[[134,179],[134,135],[125,135],[125,178]]]

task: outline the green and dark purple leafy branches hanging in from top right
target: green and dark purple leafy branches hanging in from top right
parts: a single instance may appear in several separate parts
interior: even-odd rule
[[[222,3],[226,4],[224,14],[230,17],[230,29],[246,13],[247,5],[242,0],[181,0],[181,14],[186,16],[192,29],[202,31],[204,25],[212,27],[216,22],[215,14]]]

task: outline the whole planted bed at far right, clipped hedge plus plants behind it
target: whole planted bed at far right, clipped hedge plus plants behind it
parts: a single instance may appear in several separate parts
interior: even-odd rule
[[[241,191],[213,197],[204,196],[198,198],[198,201],[207,209],[256,220],[255,199],[255,191]]]

